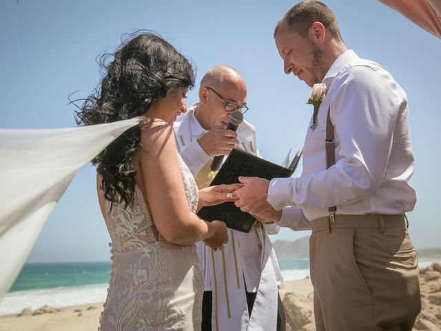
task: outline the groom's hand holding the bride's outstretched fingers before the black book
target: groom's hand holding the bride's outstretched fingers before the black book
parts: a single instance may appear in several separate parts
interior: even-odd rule
[[[269,181],[258,177],[239,177],[240,183],[245,184],[243,188],[233,192],[234,204],[243,212],[259,214],[263,210],[272,208],[265,201],[265,194],[268,192]]]

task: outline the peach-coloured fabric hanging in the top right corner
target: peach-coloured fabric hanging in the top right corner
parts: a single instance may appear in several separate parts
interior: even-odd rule
[[[441,38],[441,0],[378,0]]]

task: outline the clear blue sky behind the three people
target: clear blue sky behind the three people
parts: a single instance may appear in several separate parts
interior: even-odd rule
[[[302,146],[311,117],[309,88],[283,73],[274,45],[278,19],[296,2],[278,1],[23,1],[0,2],[0,128],[75,126],[68,95],[85,97],[99,83],[96,58],[139,29],[161,34],[197,67],[237,68],[247,82],[246,119],[257,128],[265,159],[281,163]],[[418,203],[409,213],[417,248],[440,247],[438,146],[441,41],[378,1],[325,1],[342,37],[363,58],[382,64],[409,97]],[[188,103],[197,98],[197,87]],[[433,139],[433,140],[432,140]],[[300,173],[300,168],[296,174]],[[271,239],[308,232],[283,229]],[[86,165],[48,219],[29,261],[102,261],[110,253],[99,212],[94,168]]]

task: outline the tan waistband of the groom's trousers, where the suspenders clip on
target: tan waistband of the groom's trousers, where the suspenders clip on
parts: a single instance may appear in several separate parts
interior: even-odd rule
[[[320,217],[311,221],[312,232],[331,232],[336,228],[385,228],[407,227],[407,217],[400,215],[365,214],[365,215],[335,215],[334,223],[331,223],[329,216]]]

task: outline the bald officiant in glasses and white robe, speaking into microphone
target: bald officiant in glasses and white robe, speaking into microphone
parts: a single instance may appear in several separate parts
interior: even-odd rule
[[[235,147],[260,154],[252,124],[243,121],[237,133],[225,130],[232,112],[248,110],[247,87],[237,70],[209,69],[198,95],[174,130],[181,157],[198,188],[204,188],[216,175],[210,170],[213,157],[228,155]],[[202,330],[285,330],[277,288],[283,279],[268,237],[278,229],[275,223],[260,222],[248,233],[229,229],[229,241],[218,251],[196,243],[205,271]]]

